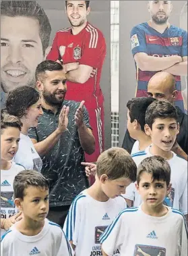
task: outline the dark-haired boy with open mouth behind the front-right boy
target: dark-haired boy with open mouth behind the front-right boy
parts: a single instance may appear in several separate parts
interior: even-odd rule
[[[166,195],[164,203],[181,210],[187,217],[187,161],[170,151],[179,133],[175,107],[168,101],[154,101],[146,111],[145,131],[152,138],[152,146],[145,151],[131,155],[131,157],[137,165],[152,155],[160,155],[168,161],[171,168],[172,188],[170,195]],[[134,207],[142,203],[135,184],[127,187],[123,197],[133,201]]]

